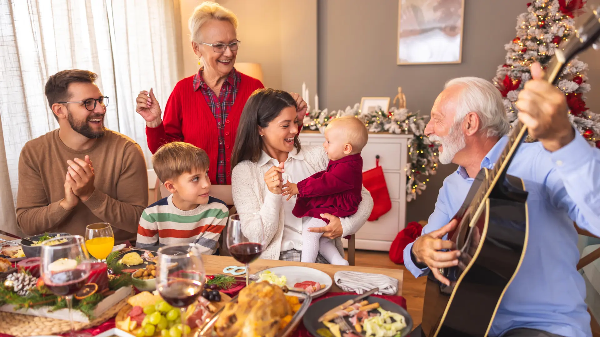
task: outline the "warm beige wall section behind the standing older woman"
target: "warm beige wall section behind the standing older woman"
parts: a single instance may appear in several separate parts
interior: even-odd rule
[[[220,0],[238,16],[236,62],[260,63],[264,85],[299,92],[317,87],[317,0]],[[187,21],[200,0],[180,0],[184,76],[196,73]]]

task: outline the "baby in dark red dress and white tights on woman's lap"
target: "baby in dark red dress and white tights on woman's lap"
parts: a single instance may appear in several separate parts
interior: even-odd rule
[[[283,195],[298,194],[293,215],[312,217],[310,221],[303,221],[302,262],[316,261],[320,252],[331,264],[348,264],[332,240],[321,237],[323,233],[308,231],[308,228],[327,225],[329,220],[321,217],[323,213],[341,218],[356,213],[362,200],[361,151],[367,140],[367,128],[358,118],[332,119],[325,128],[323,143],[329,158],[327,169],[298,184],[288,182],[284,185]]]

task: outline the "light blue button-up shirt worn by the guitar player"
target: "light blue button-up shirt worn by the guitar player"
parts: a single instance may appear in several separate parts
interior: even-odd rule
[[[600,151],[575,134],[571,143],[555,152],[546,151],[539,142],[522,144],[508,169],[508,174],[523,179],[529,192],[529,240],[523,263],[494,318],[491,336],[518,327],[567,337],[592,336],[584,302],[586,285],[575,269],[580,255],[573,221],[600,236]],[[482,168],[493,167],[506,142],[504,136],[494,145]],[[472,183],[464,167],[446,177],[422,234],[450,222]],[[429,269],[413,263],[411,249],[412,243],[404,249],[404,265],[415,277],[427,275]]]

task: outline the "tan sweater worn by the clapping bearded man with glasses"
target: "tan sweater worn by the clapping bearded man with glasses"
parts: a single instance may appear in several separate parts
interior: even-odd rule
[[[94,192],[73,210],[59,203],[65,197],[67,160],[85,155],[94,166]],[[115,243],[135,240],[137,225],[148,206],[148,172],[142,149],[127,136],[106,130],[92,148],[75,151],[58,129],[25,144],[19,158],[17,224],[28,235],[44,232],[85,234],[86,225],[108,222]]]

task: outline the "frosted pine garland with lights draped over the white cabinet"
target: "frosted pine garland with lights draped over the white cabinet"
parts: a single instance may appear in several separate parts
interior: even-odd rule
[[[310,111],[310,112],[308,112]],[[361,112],[359,104],[346,107],[346,110],[328,112],[324,110],[308,110],[304,117],[304,128],[323,133],[332,119],[341,116],[355,116],[365,123],[371,133],[412,134],[408,141],[409,163],[406,171],[406,201],[415,200],[425,190],[429,176],[436,174],[438,163],[438,145],[431,143],[425,136],[425,122],[429,116],[409,112],[406,108],[392,107],[389,112],[378,109],[373,112]]]

